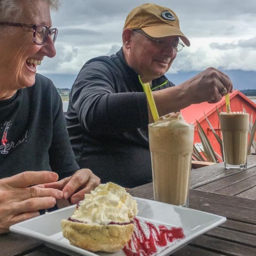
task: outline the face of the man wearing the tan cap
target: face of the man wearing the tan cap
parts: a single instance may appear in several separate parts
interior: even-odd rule
[[[130,41],[128,44],[124,43],[127,62],[141,76],[142,82],[164,75],[177,56],[173,45],[177,45],[179,38],[156,38],[160,41],[157,43],[154,38],[148,38],[135,31],[129,32]]]

